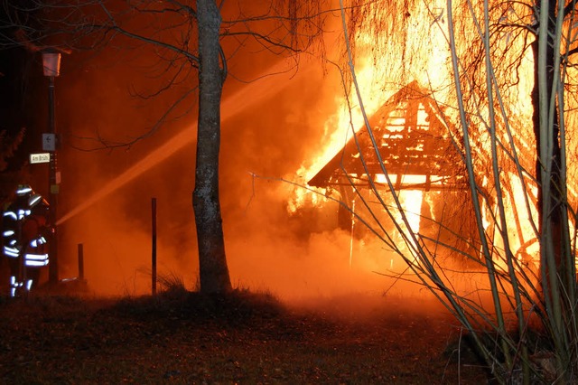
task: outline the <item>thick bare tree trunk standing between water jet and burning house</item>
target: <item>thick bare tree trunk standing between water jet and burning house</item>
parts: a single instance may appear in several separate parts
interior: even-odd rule
[[[192,206],[199,243],[200,291],[231,289],[219,204],[220,99],[224,76],[219,65],[220,14],[215,0],[197,0],[199,24],[199,125]]]

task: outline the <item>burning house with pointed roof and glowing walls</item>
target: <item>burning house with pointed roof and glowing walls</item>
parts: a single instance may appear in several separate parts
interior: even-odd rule
[[[352,229],[358,234],[391,232],[392,220],[402,215],[391,200],[395,191],[409,227],[422,239],[448,250],[473,246],[476,229],[471,211],[464,210],[471,202],[461,134],[431,93],[412,81],[368,118],[368,126],[308,182],[338,192],[338,226],[350,230],[357,219],[366,225]]]

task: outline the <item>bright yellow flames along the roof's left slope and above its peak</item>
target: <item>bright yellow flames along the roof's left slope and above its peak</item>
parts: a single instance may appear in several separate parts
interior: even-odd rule
[[[442,7],[433,8],[433,11],[443,12]],[[406,35],[406,52],[420,52],[420,58],[423,62],[417,63],[416,70],[411,71],[413,79],[418,80],[420,84],[429,85],[436,93],[443,98],[445,95],[444,84],[447,84],[449,73],[444,71],[447,68],[450,58],[450,52],[447,48],[447,42],[440,28],[432,23],[432,15],[429,12],[413,15],[414,25],[429,25],[424,33],[407,33]],[[419,31],[420,29],[415,29]],[[414,31],[414,30],[412,30]],[[424,41],[426,42],[424,44]],[[383,79],[387,79],[387,74],[382,73],[373,59],[375,39],[372,33],[363,31],[359,33],[356,40],[357,60],[355,66],[355,79],[359,87],[359,94],[363,102],[363,110],[367,117],[371,117],[383,103],[391,97],[397,89],[404,85],[394,83],[393,86],[386,88]],[[399,58],[383,57],[381,61],[398,61]],[[378,61],[380,62],[380,61]],[[322,148],[318,149],[303,161],[296,174],[299,175],[298,184],[305,185],[315,174],[317,174],[327,164],[331,158],[347,143],[352,135],[352,130],[356,132],[364,127],[365,119],[359,100],[357,99],[355,85],[352,84],[347,92],[336,96],[336,105],[339,106],[335,113],[327,117],[324,124],[324,134],[321,143]],[[312,193],[313,192],[313,193]],[[317,193],[315,193],[317,192]],[[303,204],[319,204],[324,202],[320,191],[295,189],[294,199],[288,205],[288,211],[294,213]],[[418,210],[419,211],[419,210]]]

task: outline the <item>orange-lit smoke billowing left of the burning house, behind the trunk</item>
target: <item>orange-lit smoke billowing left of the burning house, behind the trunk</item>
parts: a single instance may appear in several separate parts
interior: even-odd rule
[[[132,57],[151,53],[139,50]],[[419,287],[376,273],[403,269],[380,242],[352,243],[349,231],[336,230],[336,203],[287,211],[295,186],[280,179],[297,180],[302,164],[322,153],[327,137],[342,128],[326,126],[336,120],[342,89],[340,74],[318,61],[302,61],[294,71],[287,70],[291,61],[267,58],[258,63],[263,69],[258,73],[254,61],[238,56],[231,62],[237,75],[271,76],[248,84],[230,77],[223,95],[220,197],[233,285],[287,301],[417,294]],[[117,52],[81,59],[70,62],[68,71],[63,67],[57,86],[63,136],[58,216],[66,218],[59,226],[61,277],[77,275],[81,243],[85,277],[96,294],[150,293],[151,199],[156,198],[159,274],[182,277],[195,288],[195,100],[133,146],[83,151],[103,143],[95,139],[114,145],[144,135],[182,89],[160,99],[135,99],[131,89],[156,84],[135,61],[119,62]],[[187,108],[191,113],[181,115]],[[178,143],[165,148],[175,137]],[[146,161],[163,148],[163,156]],[[136,171],[128,175],[127,170]]]

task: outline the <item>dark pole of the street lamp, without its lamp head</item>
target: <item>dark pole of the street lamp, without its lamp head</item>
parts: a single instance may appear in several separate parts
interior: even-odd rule
[[[49,77],[48,85],[48,127],[49,133],[56,134],[56,127],[54,125],[54,77]],[[56,144],[55,144],[56,146]],[[50,239],[50,263],[48,268],[48,278],[52,285],[59,281],[58,277],[58,232],[56,229],[56,212],[57,212],[57,193],[58,184],[56,181],[56,147],[51,152],[51,160],[49,164],[48,174],[48,202],[50,204],[50,223],[52,226],[52,233]]]

